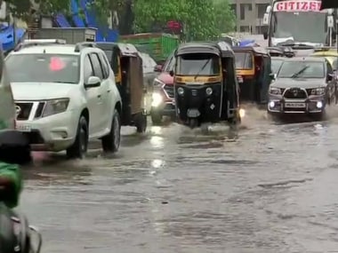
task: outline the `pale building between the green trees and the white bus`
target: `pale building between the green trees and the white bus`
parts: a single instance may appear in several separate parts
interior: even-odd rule
[[[237,17],[237,32],[262,34],[263,16],[270,0],[230,0]]]

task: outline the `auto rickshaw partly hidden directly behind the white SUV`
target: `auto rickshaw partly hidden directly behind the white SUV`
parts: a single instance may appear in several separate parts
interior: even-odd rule
[[[104,51],[115,73],[122,99],[122,125],[136,126],[138,132],[147,129],[147,112],[144,106],[142,59],[139,51],[129,43],[95,43]]]

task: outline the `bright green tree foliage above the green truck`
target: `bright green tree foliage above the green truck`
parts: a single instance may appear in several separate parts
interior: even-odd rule
[[[227,0],[137,0],[135,30],[149,32],[169,20],[181,21],[188,40],[208,40],[234,28],[235,16]]]

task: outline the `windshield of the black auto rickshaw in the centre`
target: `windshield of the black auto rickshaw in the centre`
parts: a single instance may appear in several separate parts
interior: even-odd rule
[[[184,54],[177,58],[176,75],[220,75],[220,57],[212,53]]]

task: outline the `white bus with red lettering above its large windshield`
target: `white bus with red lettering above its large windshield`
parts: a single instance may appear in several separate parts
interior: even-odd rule
[[[264,14],[264,39],[269,46],[333,46],[336,15],[333,9],[321,11],[320,6],[320,0],[274,0]]]

